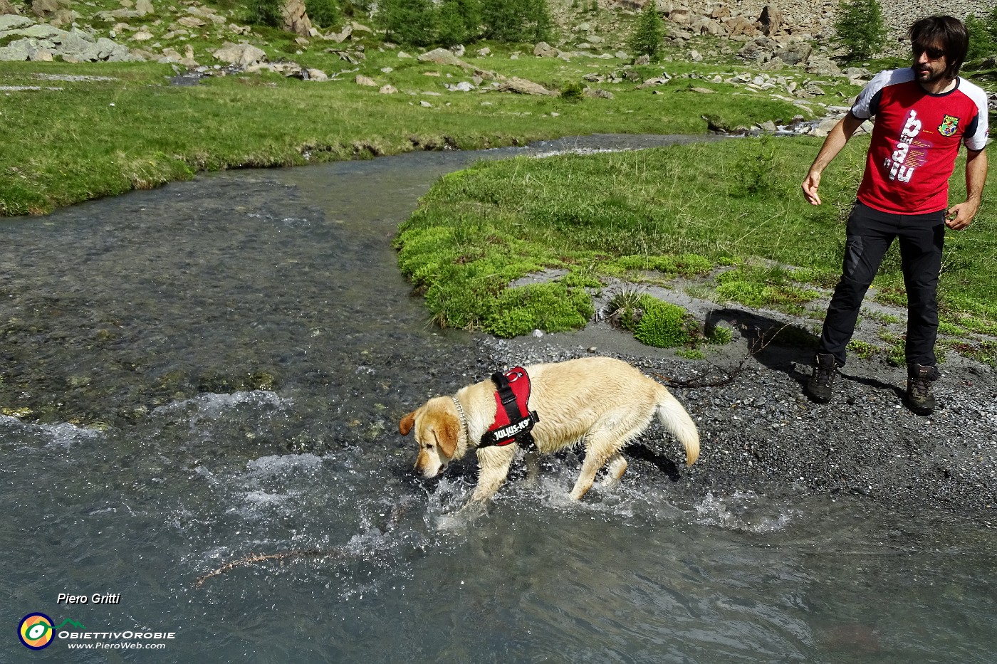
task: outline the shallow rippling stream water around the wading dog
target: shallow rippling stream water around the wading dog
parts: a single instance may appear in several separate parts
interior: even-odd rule
[[[409,297],[398,223],[474,160],[619,140],[219,173],[0,223],[0,406],[40,422],[0,416],[0,661],[997,661],[997,536],[968,519],[688,500],[638,465],[570,504],[568,454],[468,522],[472,464],[411,475],[398,417],[488,368]],[[251,553],[287,557],[197,583]],[[32,612],[174,638],[30,652]]]

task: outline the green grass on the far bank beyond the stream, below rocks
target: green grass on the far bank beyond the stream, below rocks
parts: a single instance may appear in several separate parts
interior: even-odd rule
[[[244,24],[247,12],[241,3],[208,4],[224,14],[228,23]],[[160,44],[180,53],[190,47],[195,59],[208,67],[218,62],[210,52],[222,42],[246,39],[210,23],[167,39],[175,27],[173,20],[186,12],[183,6],[157,5],[155,16],[114,25],[93,18],[101,10],[119,6],[113,0],[74,5],[82,14],[78,22],[92,23],[99,37],[112,36],[113,27],[121,23],[144,26],[155,36],[144,44]],[[619,30],[624,34],[628,17],[613,18],[622,21]],[[359,20],[370,23],[367,17]],[[176,87],[169,85],[175,72],[168,65],[0,63],[0,85],[61,88],[0,93],[0,144],[4,146],[0,151],[0,215],[44,213],[90,198],[188,178],[201,170],[297,166],[412,150],[480,149],[593,133],[701,134],[707,131],[705,114],[717,116],[730,127],[751,127],[768,120],[788,122],[798,114],[807,115],[770,93],[714,82],[717,77],[726,80],[755,73],[750,67],[723,59],[694,64],[683,59],[681,50],[671,54],[672,62],[631,67],[628,60],[617,58],[535,58],[528,55],[531,44],[469,45],[464,61],[473,68],[529,79],[552,91],[569,91],[561,99],[483,92],[489,81],[475,92],[451,92],[448,84],[471,81],[475,71],[402,59],[399,49],[385,47],[378,35],[355,34],[358,41],[349,44],[319,39],[301,45],[290,33],[253,26],[248,39],[270,61],[289,59],[342,79],[327,83],[264,73],[211,77],[197,86]],[[120,43],[129,43],[129,35],[119,27],[115,36]],[[491,57],[476,55],[484,46],[492,49]],[[357,65],[342,61],[334,51],[343,49],[363,59]],[[511,59],[517,52],[526,55]],[[660,76],[667,69],[674,78],[656,90],[637,90],[637,84],[630,81],[583,80],[590,74],[610,78],[626,69],[637,71],[641,78]],[[110,80],[38,78],[67,74]],[[399,94],[383,95],[378,88],[358,86],[356,75],[373,78],[379,86],[391,85]],[[810,78],[803,71],[780,75],[800,81]],[[857,91],[839,79],[821,84],[832,97]],[[579,100],[576,93],[583,86],[603,89],[614,99]],[[690,92],[691,87],[720,94]]]

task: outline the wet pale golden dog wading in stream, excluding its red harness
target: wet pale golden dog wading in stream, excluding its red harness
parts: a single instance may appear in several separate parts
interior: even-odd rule
[[[571,490],[580,499],[595,474],[607,466],[604,484],[618,481],[627,463],[620,451],[658,420],[685,448],[686,465],[699,457],[699,433],[689,414],[663,385],[626,362],[587,357],[526,367],[531,390],[529,410],[539,421],[532,429],[535,450],[526,450],[527,479],[539,470],[537,453],[549,455],[584,443],[585,461]],[[461,388],[452,397],[436,397],[402,418],[398,431],[416,430],[416,471],[434,478],[454,460],[477,448],[478,486],[469,506],[491,498],[508,473],[519,446],[480,447],[496,419],[496,385],[487,380]]]

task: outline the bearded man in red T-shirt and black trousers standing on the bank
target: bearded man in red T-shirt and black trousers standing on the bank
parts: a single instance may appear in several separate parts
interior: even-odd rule
[[[831,130],[803,182],[804,196],[820,205],[821,173],[862,122],[875,116],[865,172],[848,217],[841,278],[807,393],[818,403],[831,400],[862,299],[886,249],[899,238],[907,290],[905,402],[917,415],[930,415],[935,407],[931,382],[938,378],[935,291],[945,226],[965,228],[980,207],[987,175],[987,96],[958,76],[968,46],[958,19],[921,19],[908,36],[910,68],[880,72],[865,86]],[[967,150],[966,199],[949,207],[948,177],[960,144]]]

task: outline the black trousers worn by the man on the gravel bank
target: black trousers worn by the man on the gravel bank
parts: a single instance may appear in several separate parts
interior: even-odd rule
[[[892,244],[900,241],[903,282],[907,289],[907,365],[935,365],[938,336],[938,273],[945,241],[945,210],[931,214],[889,214],[855,201],[848,216],[841,279],[834,288],[824,319],[821,352],[831,353],[844,365],[844,349],[879,263]]]

